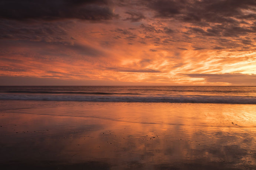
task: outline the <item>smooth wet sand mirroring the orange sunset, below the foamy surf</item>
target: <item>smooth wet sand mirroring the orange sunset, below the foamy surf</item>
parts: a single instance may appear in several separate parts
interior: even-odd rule
[[[1,111],[0,163],[7,168],[256,168],[254,105],[23,107]]]

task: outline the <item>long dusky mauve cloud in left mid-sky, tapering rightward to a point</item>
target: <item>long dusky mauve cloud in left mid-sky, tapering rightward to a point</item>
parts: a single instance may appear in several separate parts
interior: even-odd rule
[[[26,49],[26,53],[19,53],[24,57],[33,57],[35,59],[47,60],[50,61],[50,58],[56,59],[56,57],[66,57],[70,62],[74,59],[84,59],[88,57],[102,57],[105,56],[105,53],[99,49],[91,47],[85,44],[67,44],[66,42],[44,42],[44,41],[0,41],[0,46],[3,51],[13,50],[13,46],[16,48]],[[8,55],[12,53],[9,52]],[[72,57],[70,57],[70,54]],[[76,55],[74,55],[76,54]],[[78,54],[78,55],[77,55]],[[80,57],[79,57],[80,56]]]

